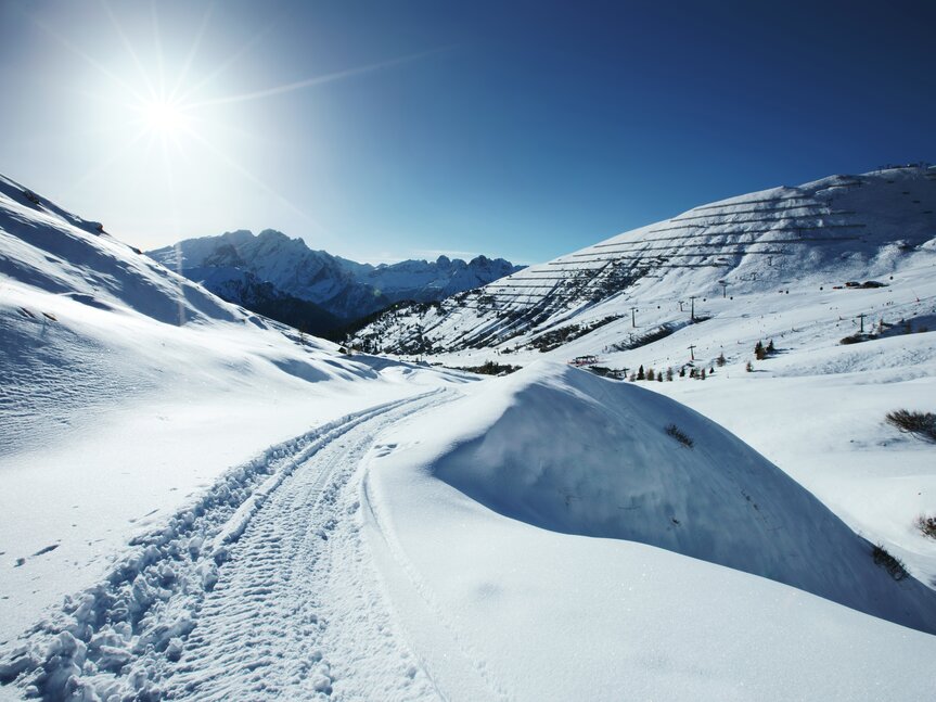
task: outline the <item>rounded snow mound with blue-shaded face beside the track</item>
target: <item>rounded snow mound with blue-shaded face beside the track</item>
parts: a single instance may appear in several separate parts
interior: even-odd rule
[[[936,631],[936,593],[903,573],[895,579],[812,494],[697,412],[544,362],[482,390],[439,410],[421,464],[486,507],[547,529],[668,549]]]

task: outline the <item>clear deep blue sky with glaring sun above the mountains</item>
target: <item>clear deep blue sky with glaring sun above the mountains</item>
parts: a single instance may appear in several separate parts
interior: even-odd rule
[[[0,173],[142,247],[536,263],[936,159],[936,2],[0,0]]]

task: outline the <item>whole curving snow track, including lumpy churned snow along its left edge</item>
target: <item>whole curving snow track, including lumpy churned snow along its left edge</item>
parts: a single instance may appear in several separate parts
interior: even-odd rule
[[[234,471],[0,658],[0,681],[47,700],[438,699],[364,544],[358,468],[450,399],[372,408]]]

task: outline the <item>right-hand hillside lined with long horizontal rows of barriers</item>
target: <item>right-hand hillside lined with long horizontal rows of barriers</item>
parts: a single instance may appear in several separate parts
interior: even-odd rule
[[[546,350],[604,323],[624,334],[631,306],[651,299],[654,308],[683,301],[690,312],[694,296],[775,293],[804,277],[867,281],[931,260],[934,212],[933,167],[773,188],[701,205],[436,306],[393,310],[355,341],[405,354]]]

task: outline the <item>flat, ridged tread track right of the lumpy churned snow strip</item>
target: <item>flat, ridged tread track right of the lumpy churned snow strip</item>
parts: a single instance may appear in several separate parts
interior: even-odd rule
[[[205,598],[167,697],[435,697],[396,636],[363,552],[356,471],[383,429],[439,401],[361,421],[272,493]]]

